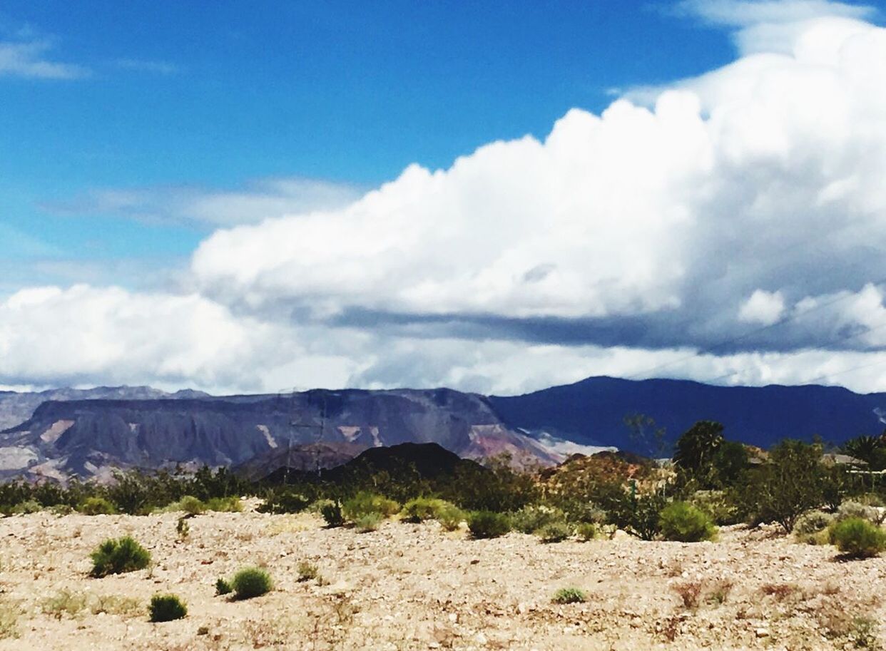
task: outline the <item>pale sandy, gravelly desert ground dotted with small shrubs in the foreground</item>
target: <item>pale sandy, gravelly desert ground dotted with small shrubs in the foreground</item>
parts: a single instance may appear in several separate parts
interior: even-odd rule
[[[470,540],[436,523],[358,533],[313,515],[246,512],[191,518],[180,542],[177,519],[0,520],[0,649],[833,649],[882,639],[886,559],[842,562],[833,547],[773,531],[543,545],[517,533]],[[152,568],[89,578],[89,552],[126,534],[151,551]],[[299,582],[302,561],[324,580]],[[215,596],[216,578],[247,564],[266,566],[276,589]],[[552,603],[568,586],[587,602]],[[188,616],[150,624],[154,593],[182,597]]]

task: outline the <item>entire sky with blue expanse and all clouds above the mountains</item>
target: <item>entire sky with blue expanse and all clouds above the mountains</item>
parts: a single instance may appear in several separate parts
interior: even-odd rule
[[[886,391],[884,24],[0,3],[0,388]]]

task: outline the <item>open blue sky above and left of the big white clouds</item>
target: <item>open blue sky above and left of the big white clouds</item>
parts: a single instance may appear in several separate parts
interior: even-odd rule
[[[723,30],[647,1],[158,6],[0,8],[0,38],[78,66],[73,79],[0,77],[0,215],[19,232],[3,258],[186,255],[204,235],[193,225],[51,206],[268,177],[377,185],[412,162],[544,136],[573,106],[599,112],[612,89],[699,74],[733,51]]]

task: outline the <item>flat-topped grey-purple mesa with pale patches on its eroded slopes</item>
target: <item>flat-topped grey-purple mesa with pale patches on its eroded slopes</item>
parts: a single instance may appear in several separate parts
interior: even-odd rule
[[[239,466],[263,476],[290,446],[333,444],[339,452],[438,443],[464,458],[511,453],[552,464],[561,457],[509,430],[486,399],[429,391],[306,391],[222,398],[50,400],[0,433],[0,477],[106,478],[114,468],[175,464]],[[255,461],[267,455],[268,465]],[[338,459],[340,461],[340,458]],[[275,466],[274,464],[278,464]]]

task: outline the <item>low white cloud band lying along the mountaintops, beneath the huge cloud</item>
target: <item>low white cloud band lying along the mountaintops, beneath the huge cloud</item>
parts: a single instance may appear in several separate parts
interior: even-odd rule
[[[59,336],[63,329],[65,336]],[[236,314],[195,294],[75,285],[0,301],[0,385],[152,384],[216,393],[310,387],[454,386],[514,394],[587,376],[667,375],[717,384],[816,379],[886,390],[886,353],[736,353],[526,345],[292,327]],[[847,371],[850,371],[847,373]]]

